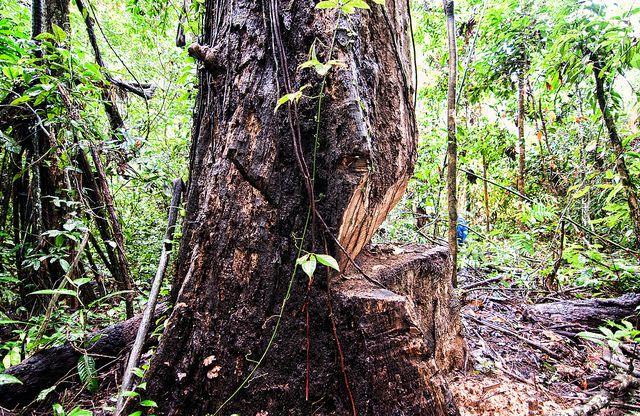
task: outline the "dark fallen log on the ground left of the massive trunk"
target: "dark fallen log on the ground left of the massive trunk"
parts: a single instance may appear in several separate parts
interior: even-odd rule
[[[166,305],[158,306],[154,318],[160,318],[166,311]],[[139,314],[87,337],[98,337],[97,341],[87,348],[88,354],[95,356],[98,368],[131,347],[141,319],[142,314]],[[10,367],[6,374],[17,377],[22,384],[0,384],[0,407],[11,409],[30,403],[42,390],[73,374],[80,355],[78,347],[66,343],[39,351],[20,364]]]

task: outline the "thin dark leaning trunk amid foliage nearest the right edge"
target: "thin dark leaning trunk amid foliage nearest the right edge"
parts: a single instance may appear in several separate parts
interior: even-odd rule
[[[616,172],[622,181],[627,192],[627,204],[629,205],[629,215],[631,216],[631,222],[633,224],[633,231],[636,235],[636,245],[640,245],[640,203],[638,201],[638,193],[636,186],[631,180],[629,169],[624,160],[624,147],[622,141],[618,135],[618,129],[613,119],[613,115],[607,107],[606,92],[604,88],[604,79],[602,78],[602,63],[599,60],[593,62],[593,76],[596,84],[596,97],[598,99],[598,106],[604,119],[605,127],[609,133],[609,144],[611,150],[616,158]]]

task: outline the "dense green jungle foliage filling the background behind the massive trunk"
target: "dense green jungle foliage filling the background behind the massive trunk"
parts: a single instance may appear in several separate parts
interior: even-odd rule
[[[203,3],[72,1],[68,24],[32,38],[31,2],[0,0],[0,370],[144,307],[172,181],[188,179],[197,63],[184,45]],[[419,154],[375,241],[445,244],[446,26],[440,1],[411,10]],[[639,291],[640,7],[460,0],[455,12],[461,281],[480,271],[521,291]],[[112,205],[83,184],[100,164]],[[39,198],[48,178],[55,192]],[[99,389],[90,355],[78,371]]]

